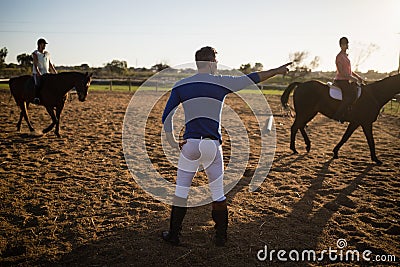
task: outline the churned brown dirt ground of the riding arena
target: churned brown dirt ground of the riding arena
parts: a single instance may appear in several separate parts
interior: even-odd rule
[[[279,116],[278,96],[267,96],[277,115],[277,148],[264,183],[249,192],[259,153],[258,126],[246,105],[229,96],[226,104],[243,111],[247,129],[256,133],[245,174],[227,196],[229,241],[224,248],[213,245],[211,205],[206,205],[188,210],[183,245],[172,247],[160,238],[169,225],[169,206],[145,193],[125,163],[122,124],[131,96],[91,92],[86,102],[73,99],[66,104],[62,137],[57,138],[53,132],[31,134],[25,122],[16,132],[19,111],[9,92],[0,90],[1,266],[274,266],[285,263],[278,259],[278,250],[286,251],[286,258],[291,250],[300,255],[304,250],[322,252],[338,249],[338,239],[347,242],[343,255],[358,250],[361,258],[370,250],[369,258],[395,255],[398,264],[400,114],[383,114],[374,124],[381,166],[371,162],[361,129],[343,146],[340,158],[332,160],[331,151],[346,124],[320,115],[307,128],[311,152],[306,153],[299,134],[300,153],[292,155],[292,119]],[[155,117],[163,105],[165,98],[154,107]],[[43,107],[31,106],[30,115],[37,131],[50,124]],[[147,124],[148,153],[160,173],[173,180],[175,168],[160,155],[160,129],[158,119]],[[225,160],[229,149],[227,141]],[[197,179],[205,179],[204,174]],[[260,261],[257,254],[265,246],[275,254]],[[321,262],[285,264],[360,262],[332,261],[325,255]]]

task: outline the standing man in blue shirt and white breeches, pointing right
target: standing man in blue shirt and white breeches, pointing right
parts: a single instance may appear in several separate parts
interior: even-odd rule
[[[203,47],[196,52],[198,73],[177,82],[165,107],[162,122],[168,143],[181,150],[173,200],[170,229],[164,231],[165,241],[178,245],[179,233],[187,211],[187,197],[197,169],[203,165],[209,179],[212,218],[215,222],[215,244],[227,241],[228,209],[223,188],[224,163],[222,157],[221,112],[227,94],[259,83],[277,74],[286,74],[287,63],[276,69],[253,72],[243,76],[216,75],[216,50]],[[185,113],[183,141],[177,142],[173,134],[172,117],[182,104]]]

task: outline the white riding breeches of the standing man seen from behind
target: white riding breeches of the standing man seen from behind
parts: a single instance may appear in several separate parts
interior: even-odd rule
[[[224,161],[219,141],[211,139],[186,141],[179,156],[175,195],[180,198],[188,197],[193,177],[202,165],[208,177],[212,200],[225,200]]]

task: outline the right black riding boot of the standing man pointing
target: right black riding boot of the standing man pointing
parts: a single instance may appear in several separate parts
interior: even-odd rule
[[[228,239],[228,207],[226,200],[212,203],[212,218],[215,222],[215,245],[223,247]]]

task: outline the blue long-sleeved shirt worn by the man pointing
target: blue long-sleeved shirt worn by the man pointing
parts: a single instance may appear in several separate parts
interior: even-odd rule
[[[198,73],[177,82],[162,115],[165,132],[172,132],[172,117],[182,103],[185,113],[184,139],[221,138],[221,113],[227,94],[259,83],[257,73],[243,76]]]

